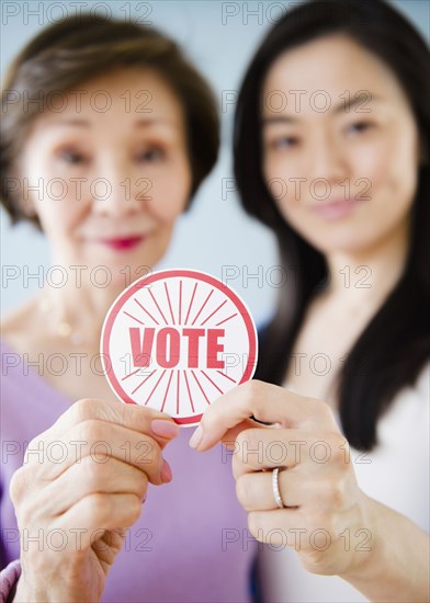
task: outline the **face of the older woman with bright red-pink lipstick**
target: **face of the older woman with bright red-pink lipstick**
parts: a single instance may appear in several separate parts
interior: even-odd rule
[[[151,70],[124,69],[45,111],[29,135],[21,178],[63,265],[123,266],[137,277],[165,253],[192,174],[179,100]],[[83,93],[82,93],[83,91]],[[66,104],[66,103],[65,103]],[[27,187],[29,189],[29,187]]]

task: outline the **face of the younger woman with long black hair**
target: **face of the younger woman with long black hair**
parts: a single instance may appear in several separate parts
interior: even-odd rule
[[[343,35],[281,55],[262,99],[263,174],[282,215],[324,253],[407,229],[418,132],[395,76]]]

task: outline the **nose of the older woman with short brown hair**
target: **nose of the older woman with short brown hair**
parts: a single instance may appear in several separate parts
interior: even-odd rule
[[[144,201],[136,195],[133,174],[127,166],[108,161],[92,181],[93,211],[111,218],[121,218],[142,211]]]

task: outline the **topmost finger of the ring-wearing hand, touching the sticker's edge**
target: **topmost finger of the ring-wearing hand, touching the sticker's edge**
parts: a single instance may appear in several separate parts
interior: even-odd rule
[[[229,430],[251,417],[263,423],[279,423],[283,428],[338,429],[325,402],[253,379],[231,389],[206,409],[190,445],[206,451],[223,440]]]

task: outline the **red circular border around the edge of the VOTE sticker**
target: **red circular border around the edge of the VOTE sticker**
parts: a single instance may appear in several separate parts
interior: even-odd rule
[[[228,286],[225,285],[222,281],[218,281],[218,278],[215,278],[215,276],[212,276],[211,274],[206,274],[205,272],[199,272],[195,270],[160,270],[158,272],[154,272],[152,274],[148,276],[143,276],[142,278],[138,278],[134,283],[132,283],[125,292],[122,292],[120,296],[114,302],[112,308],[109,310],[106,320],[103,325],[103,331],[101,337],[101,348],[102,348],[102,363],[103,368],[108,378],[108,382],[116,396],[124,402],[136,405],[132,398],[124,391],[124,389],[121,387],[120,382],[116,378],[116,375],[114,374],[112,369],[112,362],[111,362],[111,354],[110,354],[110,337],[112,332],[112,328],[114,325],[114,321],[120,314],[121,309],[123,308],[124,304],[136,293],[136,291],[144,288],[144,286],[149,285],[150,283],[155,283],[160,280],[171,278],[171,277],[192,277],[197,281],[203,281],[204,283],[207,283],[210,285],[213,285],[218,291],[222,291],[229,299],[233,302],[233,304],[237,307],[239,310],[245,327],[247,329],[248,333],[248,341],[249,341],[249,356],[247,366],[245,368],[244,375],[240,379],[240,382],[237,385],[240,385],[249,379],[252,378],[252,375],[256,371],[257,365],[257,345],[258,345],[258,339],[257,339],[257,331],[256,326],[253,323],[253,320],[251,318],[251,315],[248,310],[248,308],[245,306],[244,302],[239,298],[239,296]],[[106,368],[105,359],[109,359],[111,371]],[[112,375],[111,375],[112,374]],[[193,414],[190,417],[184,418],[173,418],[173,420],[178,424],[194,424],[197,423],[202,419],[202,414]]]

